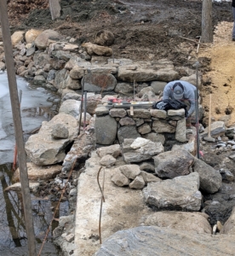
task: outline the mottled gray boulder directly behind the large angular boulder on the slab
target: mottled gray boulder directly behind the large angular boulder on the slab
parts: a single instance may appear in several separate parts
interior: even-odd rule
[[[158,177],[177,177],[190,173],[190,167],[194,162],[192,154],[179,148],[174,151],[167,151],[153,157],[155,172]]]

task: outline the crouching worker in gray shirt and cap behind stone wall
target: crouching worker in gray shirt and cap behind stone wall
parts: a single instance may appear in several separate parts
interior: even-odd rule
[[[163,90],[163,100],[175,99],[184,102],[188,106],[186,126],[191,126],[191,116],[195,111],[195,90],[197,90],[196,86],[181,80],[169,82],[165,85]]]

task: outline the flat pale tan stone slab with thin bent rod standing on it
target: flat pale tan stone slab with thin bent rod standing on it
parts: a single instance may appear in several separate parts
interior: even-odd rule
[[[92,153],[86,161],[85,172],[77,185],[77,212],[75,224],[74,255],[90,256],[100,248],[98,239],[89,239],[99,235],[100,189],[97,183],[97,173],[100,169],[100,157]],[[138,226],[141,216],[151,210],[146,207],[141,190],[129,187],[117,187],[112,183],[112,173],[115,168],[104,168],[100,171],[102,186],[103,170],[105,170],[104,195],[102,206],[101,238],[105,241],[117,230]]]

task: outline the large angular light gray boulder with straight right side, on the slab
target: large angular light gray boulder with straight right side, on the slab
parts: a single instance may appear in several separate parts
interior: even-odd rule
[[[158,209],[199,211],[202,194],[199,189],[199,175],[193,172],[186,176],[148,183],[143,189],[146,204]]]

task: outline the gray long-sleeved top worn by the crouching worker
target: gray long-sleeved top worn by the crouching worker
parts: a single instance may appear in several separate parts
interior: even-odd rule
[[[194,90],[197,90],[196,86],[181,80],[175,80],[166,84],[163,90],[163,100],[174,99],[173,86],[176,82],[180,82],[184,86],[184,96],[182,102],[190,102],[190,108],[188,109],[188,115],[190,116],[195,110],[195,95]]]

